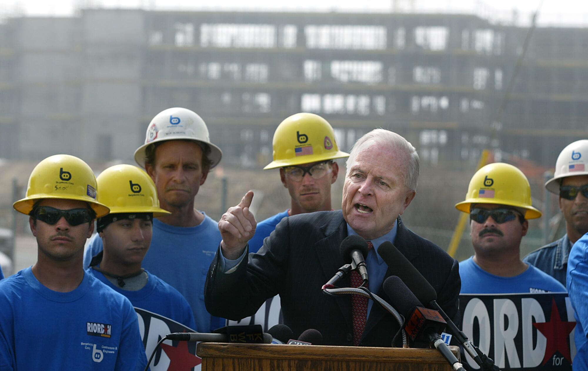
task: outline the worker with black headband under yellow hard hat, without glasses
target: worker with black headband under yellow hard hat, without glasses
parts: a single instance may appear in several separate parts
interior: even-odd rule
[[[194,315],[182,294],[141,268],[151,244],[153,217],[171,214],[159,208],[153,180],[136,166],[115,165],[96,181],[98,201],[111,211],[96,220],[104,249],[90,263],[88,273],[128,297],[133,307],[193,329]]]

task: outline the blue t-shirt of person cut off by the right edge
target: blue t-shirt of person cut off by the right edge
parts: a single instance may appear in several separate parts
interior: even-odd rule
[[[572,369],[588,370],[588,234],[574,243],[567,259],[567,291],[576,318]]]

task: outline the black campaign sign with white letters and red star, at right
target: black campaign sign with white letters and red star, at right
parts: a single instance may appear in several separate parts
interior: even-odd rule
[[[501,370],[572,370],[576,322],[566,293],[462,294],[459,310],[467,338]]]

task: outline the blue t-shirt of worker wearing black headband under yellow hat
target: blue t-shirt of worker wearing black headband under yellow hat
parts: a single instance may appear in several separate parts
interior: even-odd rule
[[[191,329],[196,327],[194,314],[186,299],[178,290],[169,286],[169,284],[159,279],[155,274],[148,272],[147,284],[141,290],[129,291],[116,287],[104,274],[95,269],[89,268],[86,271],[102,281],[106,286],[126,296],[127,299],[131,300],[133,307],[145,309],[149,312],[167,317]]]

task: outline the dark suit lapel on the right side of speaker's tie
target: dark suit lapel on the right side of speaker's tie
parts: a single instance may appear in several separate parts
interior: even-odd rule
[[[400,251],[400,253],[406,256],[406,259],[408,259],[409,261],[413,261],[414,259],[416,259],[416,257],[419,256],[419,251],[416,250],[417,246],[413,241],[411,235],[412,232],[405,227],[404,223],[402,223],[402,220],[400,220],[400,217],[398,217],[397,222],[398,223],[396,227],[398,228],[398,230],[396,231],[396,239],[394,241],[394,246],[396,247],[396,249]],[[386,271],[386,276],[384,276],[384,280],[394,275],[395,274],[392,271],[392,269],[388,268]],[[370,291],[372,290],[374,290],[374,288],[370,287]],[[377,296],[386,300],[387,303],[390,303],[390,298],[386,295],[382,287],[377,287],[377,290],[372,292],[375,292]],[[382,306],[380,306],[380,304],[372,304],[372,310],[370,310],[368,322],[366,322],[365,330],[363,330],[362,339],[366,337],[366,335],[368,335],[370,331],[374,329],[374,327],[377,326],[377,324],[382,320],[382,318],[386,314],[392,316],[392,314],[389,314],[387,310],[383,309]]]

